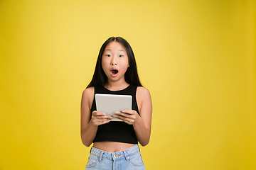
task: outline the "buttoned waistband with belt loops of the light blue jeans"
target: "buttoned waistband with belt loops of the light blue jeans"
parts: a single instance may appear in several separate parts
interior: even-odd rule
[[[102,161],[102,159],[126,159],[129,160],[129,156],[132,154],[136,154],[137,152],[140,152],[139,145],[134,145],[133,147],[129,147],[128,149],[125,149],[123,151],[119,152],[105,152],[103,150],[97,149],[96,147],[92,147],[90,154],[95,155],[99,158],[99,162]]]

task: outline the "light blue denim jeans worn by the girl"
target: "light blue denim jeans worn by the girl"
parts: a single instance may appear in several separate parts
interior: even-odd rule
[[[105,152],[92,147],[86,169],[145,170],[145,166],[138,145],[120,152]]]

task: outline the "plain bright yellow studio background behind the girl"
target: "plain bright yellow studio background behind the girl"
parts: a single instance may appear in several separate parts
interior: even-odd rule
[[[253,0],[0,0],[0,169],[85,169],[80,98],[110,36],[154,104],[146,169],[256,169]]]

